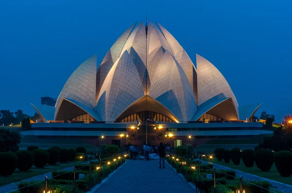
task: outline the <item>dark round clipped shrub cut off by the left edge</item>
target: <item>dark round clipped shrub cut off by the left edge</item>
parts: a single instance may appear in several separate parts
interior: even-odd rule
[[[18,158],[14,153],[0,153],[0,176],[11,176],[15,171],[18,163]]]

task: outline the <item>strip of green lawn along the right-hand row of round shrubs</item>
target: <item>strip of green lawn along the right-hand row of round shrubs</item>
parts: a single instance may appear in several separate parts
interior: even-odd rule
[[[235,169],[235,170],[246,172],[246,173],[249,173],[249,174],[252,174],[255,176],[264,177],[264,178],[268,178],[268,179],[278,181],[278,182],[281,182],[284,184],[292,185],[292,176],[291,177],[281,177],[274,164],[269,172],[262,172],[260,169],[258,169],[256,167],[256,164],[252,168],[245,167],[242,160],[240,161],[239,165],[234,165],[232,161],[230,161],[230,163],[225,163],[223,160],[218,161],[217,159],[214,159],[212,162],[219,164],[219,165],[223,165],[223,166],[232,168],[232,169]]]

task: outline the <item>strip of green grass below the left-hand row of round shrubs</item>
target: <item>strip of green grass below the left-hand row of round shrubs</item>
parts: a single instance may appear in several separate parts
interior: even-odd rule
[[[25,172],[19,171],[18,169],[16,169],[16,171],[10,177],[0,177],[0,186],[3,186],[5,184],[10,184],[13,182],[18,182],[20,180],[27,179],[30,177],[35,177],[37,175],[41,175],[47,172],[63,169],[65,167],[69,167],[69,166],[79,164],[79,163],[80,161],[75,161],[71,163],[58,163],[56,165],[46,165],[44,168],[33,167],[29,171],[25,171]]]

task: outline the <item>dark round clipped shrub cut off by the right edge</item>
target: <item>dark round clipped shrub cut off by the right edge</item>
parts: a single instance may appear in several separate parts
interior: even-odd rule
[[[275,166],[281,177],[292,175],[292,152],[279,151],[274,156]]]

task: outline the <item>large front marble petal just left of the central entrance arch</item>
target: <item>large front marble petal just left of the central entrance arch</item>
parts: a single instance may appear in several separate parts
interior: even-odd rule
[[[100,90],[96,111],[104,121],[114,121],[120,113],[144,96],[139,72],[126,50],[112,66]]]

